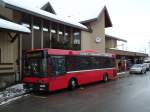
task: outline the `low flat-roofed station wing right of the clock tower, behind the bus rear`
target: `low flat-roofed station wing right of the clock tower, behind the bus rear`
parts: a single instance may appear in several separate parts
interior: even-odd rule
[[[105,35],[105,37],[107,45],[105,50],[107,53],[116,55],[116,68],[118,72],[128,71],[133,64],[143,63],[144,58],[148,56],[145,53],[118,49],[118,41],[127,43],[124,39],[110,35]]]

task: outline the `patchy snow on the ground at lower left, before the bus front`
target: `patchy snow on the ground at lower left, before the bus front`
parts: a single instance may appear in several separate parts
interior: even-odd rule
[[[23,84],[17,84],[9,88],[6,88],[4,91],[0,93],[0,105],[18,99],[25,93],[26,90],[23,88]]]

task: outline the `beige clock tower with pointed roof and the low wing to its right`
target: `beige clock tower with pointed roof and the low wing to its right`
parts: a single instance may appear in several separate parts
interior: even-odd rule
[[[127,71],[135,63],[142,63],[148,55],[145,53],[119,50],[118,41],[127,43],[127,40],[105,34],[105,28],[112,27],[112,22],[106,6],[102,8],[98,16],[81,21],[90,30],[81,31],[81,49],[94,49],[104,53],[116,55],[116,67],[118,72]]]

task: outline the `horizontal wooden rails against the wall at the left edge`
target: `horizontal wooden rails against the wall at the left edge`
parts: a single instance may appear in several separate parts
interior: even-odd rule
[[[0,63],[0,74],[14,73],[13,63]]]

